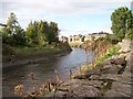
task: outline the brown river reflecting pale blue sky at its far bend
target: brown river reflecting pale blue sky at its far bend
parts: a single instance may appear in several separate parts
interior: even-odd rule
[[[91,56],[91,54],[90,54]],[[82,48],[73,48],[73,51],[65,56],[57,57],[48,63],[30,64],[24,66],[13,66],[3,68],[2,73],[2,94],[3,97],[13,97],[13,88],[17,85],[24,85],[27,91],[31,91],[32,84],[28,77],[30,73],[35,75],[35,85],[40,87],[47,80],[55,78],[54,69],[61,79],[68,79],[68,72],[74,72],[76,67],[85,62],[85,53]],[[91,57],[89,58],[91,62]]]

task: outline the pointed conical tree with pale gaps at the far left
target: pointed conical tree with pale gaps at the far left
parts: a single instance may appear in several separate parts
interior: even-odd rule
[[[24,30],[12,12],[8,18],[7,26],[2,29],[2,43],[10,45],[23,45],[25,43]]]

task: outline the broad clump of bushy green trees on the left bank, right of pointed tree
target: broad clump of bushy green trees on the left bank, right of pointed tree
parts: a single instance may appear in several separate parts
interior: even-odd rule
[[[25,36],[29,44],[39,44],[44,46],[47,43],[58,42],[59,29],[54,22],[34,21],[27,28]]]

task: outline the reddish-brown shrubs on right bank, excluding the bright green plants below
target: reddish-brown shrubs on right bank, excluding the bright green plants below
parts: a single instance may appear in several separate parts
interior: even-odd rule
[[[86,54],[86,65],[89,66],[88,64],[88,52],[91,51],[91,53],[93,53],[95,55],[95,59],[92,61],[92,66],[95,66],[95,63],[99,63],[101,61],[103,61],[103,58],[100,58],[99,57],[102,57],[104,55],[104,53],[112,46],[112,43],[111,43],[111,40],[109,41],[109,37],[99,37],[98,40],[94,40],[94,37],[92,37],[91,41],[86,41],[83,43],[82,47],[83,50],[85,51],[85,54]],[[112,51],[110,51],[111,55],[112,55]],[[110,54],[108,54],[110,55]]]

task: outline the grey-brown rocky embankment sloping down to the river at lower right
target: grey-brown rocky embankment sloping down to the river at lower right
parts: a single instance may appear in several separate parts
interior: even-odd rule
[[[133,97],[131,92],[131,66],[133,46],[123,41],[120,52],[101,63],[92,70],[76,75],[73,79],[62,84],[55,97]],[[51,94],[51,96],[53,96]]]

